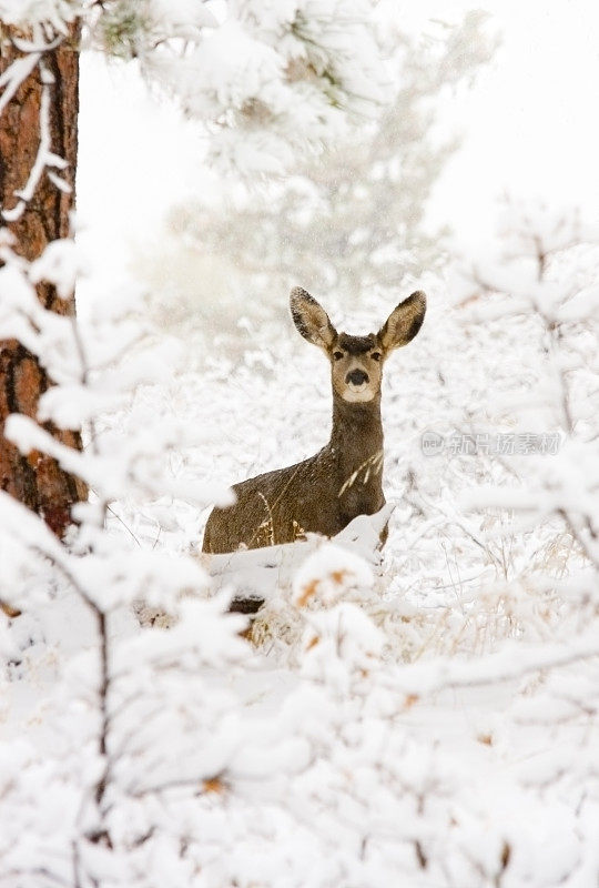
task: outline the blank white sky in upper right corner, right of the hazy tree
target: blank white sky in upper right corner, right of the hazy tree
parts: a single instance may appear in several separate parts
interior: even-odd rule
[[[473,3],[425,2],[438,18]],[[495,202],[542,198],[580,205],[599,220],[598,0],[488,0],[490,26],[502,34],[474,90],[448,102],[447,125],[463,147],[447,164],[429,218],[448,221],[458,239],[493,234]]]

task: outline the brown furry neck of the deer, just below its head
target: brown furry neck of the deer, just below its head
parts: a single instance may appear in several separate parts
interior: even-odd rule
[[[344,477],[349,477],[368,461],[383,464],[383,422],[380,394],[372,401],[352,404],[333,395],[333,428],[328,446]],[[372,473],[380,477],[379,472]]]

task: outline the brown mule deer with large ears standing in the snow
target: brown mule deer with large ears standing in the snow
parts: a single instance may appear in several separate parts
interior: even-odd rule
[[[333,430],[322,451],[302,463],[234,484],[236,502],[214,508],[203,552],[234,552],[291,543],[304,533],[334,536],[357,515],[373,515],[383,494],[383,365],[394,349],[418,333],[426,296],[413,293],[390,313],[378,333],[337,333],[309,293],[294,287],[295,326],[331,363]]]

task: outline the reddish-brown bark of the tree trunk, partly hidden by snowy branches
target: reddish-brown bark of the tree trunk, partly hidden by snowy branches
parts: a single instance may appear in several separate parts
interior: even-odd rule
[[[12,43],[14,36],[16,32],[10,28],[2,31],[0,72],[22,56]],[[41,64],[53,79],[50,85],[51,151],[68,163],[60,175],[69,184],[70,191],[58,189],[44,172],[22,215],[16,221],[2,219],[2,224],[8,225],[17,239],[16,252],[27,260],[38,258],[50,241],[70,234],[79,110],[77,29],[72,29],[69,39],[60,47],[45,52]],[[38,64],[0,117],[0,201],[4,212],[19,203],[14,192],[26,185],[38,154],[41,97],[41,70]],[[74,295],[71,300],[62,300],[55,289],[45,283],[38,286],[38,295],[47,309],[58,314],[74,312]],[[51,384],[38,360],[19,342],[0,342],[0,487],[41,515],[52,531],[62,537],[71,522],[71,506],[87,497],[85,485],[63,472],[55,460],[38,451],[22,456],[3,437],[6,417],[10,413],[35,417],[40,395]],[[62,443],[81,448],[79,432],[59,430],[52,423],[44,423],[43,427]]]

